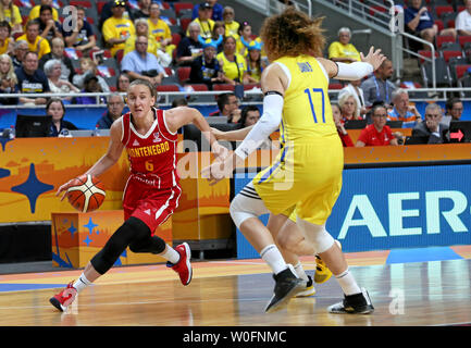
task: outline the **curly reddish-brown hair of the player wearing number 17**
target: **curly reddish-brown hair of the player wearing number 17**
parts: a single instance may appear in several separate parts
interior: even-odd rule
[[[260,37],[269,60],[300,54],[322,57],[325,46],[325,30],[321,28],[323,20],[324,17],[311,18],[294,8],[267,18]]]

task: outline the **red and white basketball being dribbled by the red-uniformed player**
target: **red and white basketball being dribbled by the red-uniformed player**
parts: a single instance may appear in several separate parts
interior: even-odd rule
[[[86,213],[100,208],[106,197],[103,184],[92,175],[74,178],[67,189],[67,199],[72,207]]]

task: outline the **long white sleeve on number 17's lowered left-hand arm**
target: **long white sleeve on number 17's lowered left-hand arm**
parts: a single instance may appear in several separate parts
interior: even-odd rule
[[[283,97],[278,94],[269,94],[263,98],[263,114],[235,150],[235,154],[245,160],[273,132],[278,129],[282,122],[283,102]]]

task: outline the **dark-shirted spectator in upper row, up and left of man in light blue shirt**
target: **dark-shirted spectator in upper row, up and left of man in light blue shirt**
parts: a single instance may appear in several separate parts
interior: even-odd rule
[[[91,49],[100,50],[94,28],[85,17],[85,8],[75,8],[77,9],[77,25],[74,28],[62,27],[66,47],[73,47],[84,53]]]

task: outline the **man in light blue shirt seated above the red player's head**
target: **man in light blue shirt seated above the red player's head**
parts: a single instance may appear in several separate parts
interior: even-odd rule
[[[124,55],[121,61],[121,71],[131,79],[147,79],[153,86],[160,85],[165,70],[159,64],[157,57],[147,51],[148,38],[138,36],[135,50]]]

